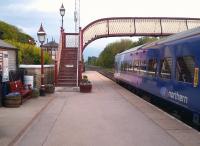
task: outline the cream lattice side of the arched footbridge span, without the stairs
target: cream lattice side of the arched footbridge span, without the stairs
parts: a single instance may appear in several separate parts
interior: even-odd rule
[[[82,51],[92,41],[118,36],[168,36],[200,26],[198,18],[115,17],[93,21],[82,30]]]

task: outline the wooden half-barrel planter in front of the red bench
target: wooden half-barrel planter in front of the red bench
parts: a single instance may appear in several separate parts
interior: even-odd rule
[[[22,103],[20,93],[13,92],[9,93],[4,97],[3,104],[5,107],[19,107]]]

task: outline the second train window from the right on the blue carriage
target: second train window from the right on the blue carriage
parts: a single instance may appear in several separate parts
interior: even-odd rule
[[[172,70],[172,58],[166,57],[160,62],[160,77],[165,79],[171,79]]]

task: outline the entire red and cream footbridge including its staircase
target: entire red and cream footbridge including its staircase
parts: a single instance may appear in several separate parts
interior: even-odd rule
[[[95,20],[83,29],[80,28],[79,33],[66,33],[61,29],[57,53],[57,85],[78,86],[82,74],[82,53],[88,44],[97,39],[169,36],[199,26],[199,18],[112,17]]]

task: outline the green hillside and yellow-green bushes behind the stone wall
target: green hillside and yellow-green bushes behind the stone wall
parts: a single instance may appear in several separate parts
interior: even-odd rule
[[[40,64],[40,48],[35,46],[34,39],[31,36],[23,33],[16,26],[0,21],[0,39],[4,39],[19,49],[19,64]],[[44,52],[44,63],[52,63],[52,58],[47,52]]]

